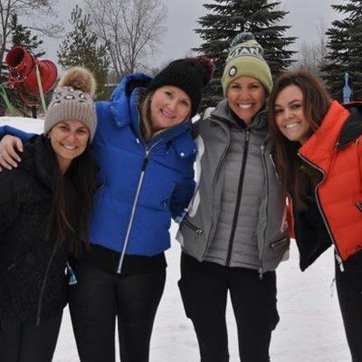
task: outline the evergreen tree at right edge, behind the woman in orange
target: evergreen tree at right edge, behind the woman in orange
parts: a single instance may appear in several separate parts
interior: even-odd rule
[[[342,100],[344,75],[348,72],[352,99],[362,100],[362,1],[348,0],[332,8],[345,17],[335,20],[326,33],[329,52],[327,64],[321,67],[322,78],[331,96]]]

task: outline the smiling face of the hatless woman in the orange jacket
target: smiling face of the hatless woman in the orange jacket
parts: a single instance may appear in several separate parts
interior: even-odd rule
[[[303,109],[303,93],[296,85],[282,89],[275,99],[275,122],[281,133],[291,141],[305,143],[310,138],[310,122]]]

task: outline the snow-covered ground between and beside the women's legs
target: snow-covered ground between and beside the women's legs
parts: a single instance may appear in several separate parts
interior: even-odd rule
[[[167,252],[167,285],[161,300],[151,342],[151,362],[196,362],[199,360],[195,332],[186,319],[177,290],[179,246]],[[338,310],[333,280],[333,254],[326,252],[303,273],[298,252],[278,269],[278,308],[281,322],[271,340],[272,362],[348,362],[348,346]],[[333,296],[331,297],[331,291]],[[229,303],[230,304],[230,303]],[[230,305],[229,305],[230,307]],[[238,362],[236,328],[231,308],[229,320],[230,361]],[[78,361],[68,310],[64,315],[54,361]],[[119,361],[119,359],[118,359]]]

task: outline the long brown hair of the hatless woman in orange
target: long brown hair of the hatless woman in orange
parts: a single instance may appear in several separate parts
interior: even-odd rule
[[[304,117],[310,124],[311,133],[319,129],[329,109],[331,99],[321,81],[306,69],[282,73],[274,82],[269,98],[270,133],[275,147],[276,166],[282,185],[295,197],[295,205],[304,208],[310,195],[308,183],[316,183],[319,173],[314,168],[300,164],[300,142],[294,142],[281,134],[276,124],[275,101],[281,90],[295,85],[303,94]]]

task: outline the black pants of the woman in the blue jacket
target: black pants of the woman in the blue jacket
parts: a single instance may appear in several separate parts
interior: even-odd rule
[[[98,268],[74,268],[71,322],[81,362],[115,361],[118,318],[122,362],[147,362],[149,342],[166,271],[119,276]]]

